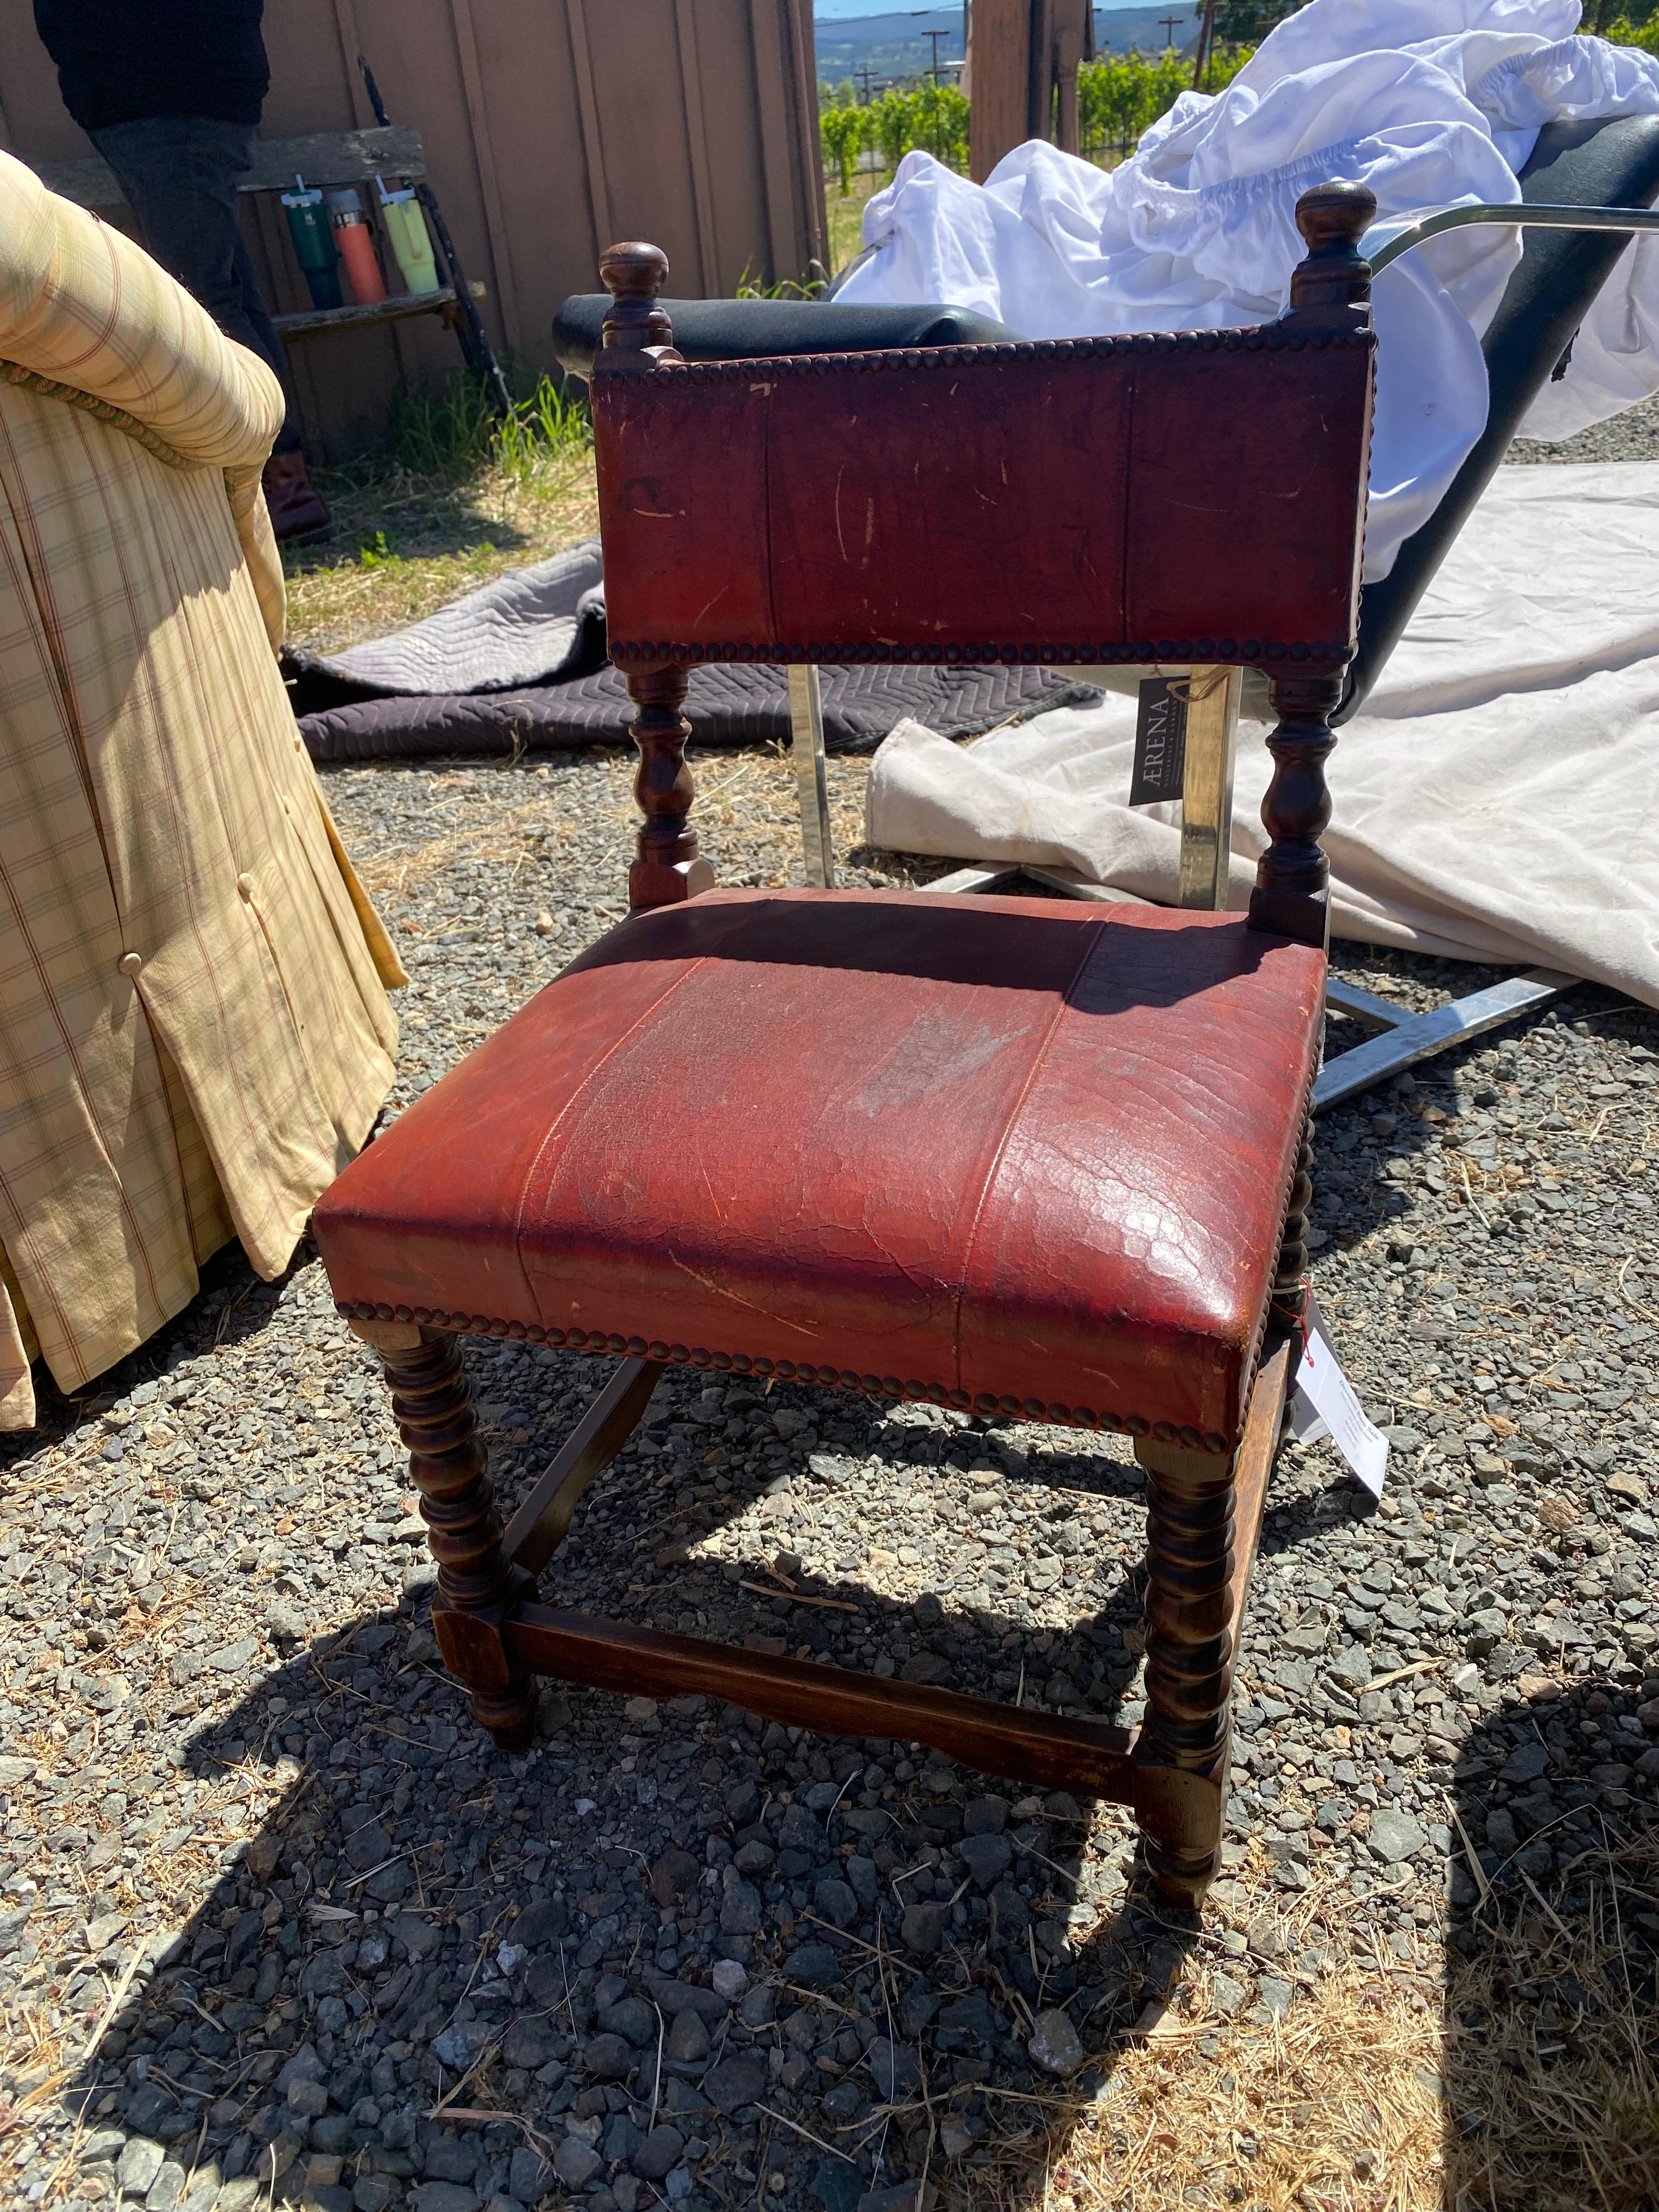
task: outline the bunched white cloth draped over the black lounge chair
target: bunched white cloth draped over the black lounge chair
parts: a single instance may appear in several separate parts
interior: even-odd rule
[[[1579,0],[1310,0],[1232,84],[1181,93],[1104,173],[1015,146],[984,186],[911,153],[865,210],[878,248],[845,301],[942,301],[1033,338],[1199,330],[1281,314],[1294,208],[1369,184],[1378,219],[1517,201],[1546,122],[1659,113],[1659,60],[1577,38]],[[1517,232],[1431,239],[1376,281],[1378,405],[1365,575],[1394,566],[1486,427],[1480,334]],[[1659,237],[1637,239],[1573,361],[1526,418],[1566,438],[1659,389]]]

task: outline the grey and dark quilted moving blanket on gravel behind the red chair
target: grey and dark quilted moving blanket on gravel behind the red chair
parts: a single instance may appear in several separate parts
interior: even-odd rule
[[[604,657],[597,538],[392,637],[332,655],[290,650],[283,672],[314,761],[619,745],[633,721]],[[1095,697],[1044,668],[825,668],[823,737],[830,752],[874,752],[907,717],[975,737]],[[692,668],[686,712],[699,745],[787,745],[787,672]]]

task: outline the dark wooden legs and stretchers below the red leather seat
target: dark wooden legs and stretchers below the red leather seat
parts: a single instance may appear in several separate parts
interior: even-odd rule
[[[1232,1655],[1267,1475],[1283,1433],[1294,1336],[1276,1332],[1270,1338],[1232,1460],[1146,1438],[1135,1447],[1148,1489],[1166,1484],[1177,1500],[1206,1491],[1217,1502],[1206,1515],[1203,1557],[1194,1562],[1190,1544],[1183,1555],[1179,1528],[1166,1531],[1166,1542],[1159,1542],[1152,1498],[1152,1590],[1161,1590],[1166,1601],[1148,1595],[1148,1663],[1157,1663],[1164,1644],[1172,1672],[1186,1681],[1188,1705],[1197,1703],[1199,1721],[1208,1723],[1199,1743],[1181,1745],[1157,1719],[1148,1728],[1124,1730],[1024,1712],[953,1690],[883,1681],[538,1604],[535,1575],[562,1544],[582,1493],[637,1429],[664,1363],[617,1360],[566,1444],[502,1528],[456,1336],[398,1321],[352,1321],[349,1327],[380,1354],[409,1444],[438,1557],[438,1646],[469,1688],[473,1712],[504,1750],[522,1750],[531,1736],[531,1677],[580,1681],[628,1697],[701,1692],[794,1728],[927,1743],[987,1774],[1128,1805],[1166,1893],[1179,1902],[1197,1900],[1221,1838]],[[1179,1506],[1172,1517],[1179,1522]],[[1188,1588],[1194,1575],[1203,1584],[1199,1590]],[[1201,1617],[1177,1619],[1183,1608],[1190,1610],[1192,1597]],[[1164,1714],[1177,1730],[1181,1719],[1181,1712]]]

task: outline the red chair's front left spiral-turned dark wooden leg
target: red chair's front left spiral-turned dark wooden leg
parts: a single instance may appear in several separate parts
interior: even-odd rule
[[[524,1577],[502,1553],[502,1522],[467,1369],[447,1329],[403,1321],[354,1321],[374,1345],[392,1389],[409,1478],[438,1562],[431,1628],[445,1666],[465,1683],[476,1719],[504,1752],[522,1752],[535,1725],[535,1683],[502,1641],[502,1621]]]

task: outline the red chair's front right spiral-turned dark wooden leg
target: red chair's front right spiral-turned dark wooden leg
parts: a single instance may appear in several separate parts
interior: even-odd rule
[[[1221,1863],[1232,1699],[1232,1469],[1208,1451],[1141,1440],[1146,1469],[1146,1719],[1139,1759],[1206,1787],[1141,1825],[1159,1891],[1197,1911]]]

